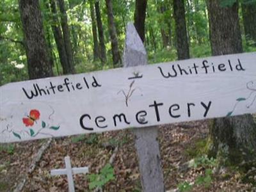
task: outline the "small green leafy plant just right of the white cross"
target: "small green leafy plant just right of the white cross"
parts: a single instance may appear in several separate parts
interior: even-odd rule
[[[104,187],[110,180],[115,179],[114,169],[111,164],[106,164],[102,170],[100,170],[99,174],[90,174],[87,176],[90,180],[89,189],[102,188]]]

